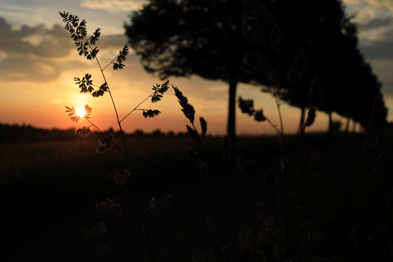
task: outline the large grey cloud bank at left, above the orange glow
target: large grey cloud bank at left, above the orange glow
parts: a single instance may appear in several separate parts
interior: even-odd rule
[[[97,42],[99,49],[122,48],[125,35],[105,36]],[[0,18],[0,80],[50,82],[62,71],[85,68],[83,60],[70,60],[70,51],[76,52],[70,34],[55,25],[22,26],[12,29]]]

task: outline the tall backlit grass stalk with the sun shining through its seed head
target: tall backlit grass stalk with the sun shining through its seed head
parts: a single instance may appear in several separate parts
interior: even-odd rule
[[[105,70],[105,68],[107,68],[110,65],[112,65],[112,68],[115,71],[122,70],[125,67],[125,64],[123,64],[123,63],[127,60],[127,55],[129,54],[128,44],[126,43],[124,45],[124,47],[122,49],[120,49],[119,54],[111,62],[109,62],[107,64],[107,66],[102,67],[101,64],[99,63],[99,60],[97,59],[97,54],[99,53],[99,49],[97,46],[95,46],[97,41],[99,40],[99,37],[101,36],[101,32],[100,32],[101,29],[97,28],[92,33],[92,35],[88,36],[87,30],[86,30],[86,20],[81,20],[81,19],[79,19],[78,16],[72,15],[70,13],[66,13],[65,11],[59,12],[59,15],[63,18],[63,22],[66,23],[66,26],[64,27],[64,29],[66,29],[66,31],[68,31],[71,34],[71,37],[75,41],[75,46],[76,46],[78,54],[80,56],[86,57],[87,60],[97,61],[97,64],[101,70],[102,80],[99,82],[98,85],[94,84],[95,81],[93,79],[93,76],[89,73],[85,73],[82,77],[74,77],[73,80],[75,81],[75,84],[78,86],[78,88],[80,88],[80,90],[79,90],[80,93],[89,93],[94,98],[103,97],[105,93],[109,94],[111,102],[112,102],[114,110],[115,110],[115,113],[116,113],[116,118],[117,118],[118,126],[120,129],[121,139],[123,142],[123,148],[118,147],[118,145],[116,145],[114,143],[113,134],[108,134],[108,135],[103,134],[101,129],[99,129],[96,125],[94,125],[90,121],[90,117],[92,115],[92,108],[90,106],[88,106],[88,104],[86,104],[84,106],[84,110],[83,110],[83,108],[77,107],[75,109],[73,106],[71,106],[71,107],[66,106],[66,109],[67,109],[66,112],[69,113],[68,116],[70,116],[70,119],[75,123],[81,122],[82,119],[86,119],[90,123],[90,125],[83,126],[82,128],[77,129],[75,134],[78,134],[81,136],[88,136],[91,133],[91,130],[90,130],[91,126],[94,126],[95,128],[97,128],[97,130],[99,130],[103,134],[103,137],[98,139],[98,143],[99,143],[99,148],[97,149],[98,153],[104,153],[106,150],[110,149],[112,147],[112,145],[114,145],[116,148],[118,148],[118,150],[127,159],[127,163],[128,163],[127,170],[128,171],[126,169],[124,169],[123,172],[116,172],[114,176],[112,176],[112,175],[110,175],[110,176],[113,179],[114,183],[116,184],[116,187],[126,183],[127,178],[129,178],[129,177],[131,178],[132,184],[134,186],[134,191],[136,193],[136,200],[138,203],[138,208],[140,211],[141,224],[145,225],[145,226],[143,226],[143,232],[145,233],[145,239],[146,239],[146,243],[147,243],[149,253],[150,253],[149,259],[151,259],[152,262],[154,262],[154,260],[155,260],[154,253],[152,251],[149,236],[147,234],[151,230],[147,229],[148,228],[147,225],[149,225],[149,222],[145,221],[144,217],[142,216],[142,210],[141,210],[141,206],[140,206],[140,203],[138,200],[138,194],[137,194],[137,190],[136,190],[135,181],[132,176],[130,158],[129,158],[127,146],[125,144],[124,133],[122,130],[121,122],[128,115],[130,115],[132,112],[134,112],[135,110],[141,110],[142,116],[146,119],[152,118],[152,117],[157,117],[161,113],[159,110],[143,109],[143,108],[138,108],[138,107],[144,101],[146,101],[149,97],[151,97],[151,102],[153,104],[160,101],[163,97],[163,94],[165,92],[167,92],[167,90],[168,90],[169,80],[163,84],[156,84],[156,86],[153,85],[152,94],[149,95],[146,99],[144,99],[140,104],[138,104],[134,109],[132,109],[131,112],[129,112],[127,115],[125,115],[125,117],[123,117],[123,119],[120,120],[119,112],[116,109],[116,105],[113,100],[112,93],[110,91],[110,86],[109,86],[108,81],[105,77],[104,70]],[[119,189],[118,189],[118,192],[119,192],[119,197],[121,199],[121,194],[120,194]],[[97,204],[96,207],[97,207],[97,209],[99,209],[101,211],[112,211],[115,216],[119,216],[121,214],[121,211],[124,209],[124,207],[120,206],[120,203],[117,203],[117,202],[114,203],[114,201],[110,200],[109,198],[107,198],[107,200],[105,202]],[[127,212],[124,212],[124,213],[126,213],[126,216],[127,216]],[[131,227],[131,224],[129,224],[129,225],[130,225],[130,229],[132,231],[133,229]],[[99,228],[99,230],[100,230],[100,228]],[[92,228],[90,231],[87,229],[83,229],[82,232],[89,239],[93,238],[93,236],[96,236],[95,227]],[[135,238],[134,238],[134,240],[135,240],[135,245],[137,247],[136,250],[138,251],[139,258],[142,261],[141,253],[138,249],[138,242],[136,241]],[[108,242],[107,244],[99,244],[97,249],[95,249],[94,253],[95,254],[102,253],[102,252],[108,253],[111,249],[112,249],[112,244],[110,242]]]

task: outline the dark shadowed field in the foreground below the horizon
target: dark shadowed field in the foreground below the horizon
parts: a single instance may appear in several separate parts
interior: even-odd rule
[[[390,261],[392,253],[388,239],[393,236],[393,133],[386,130],[385,134],[382,145],[384,162],[373,186],[371,215],[367,218],[365,253],[384,256],[386,261]],[[299,211],[296,212],[304,214],[340,183],[350,183],[362,192],[367,191],[364,139],[363,134],[309,134],[301,139],[300,142],[312,145],[312,167],[307,200],[303,206],[297,207]],[[219,172],[222,141],[222,137],[207,137],[205,149],[214,180],[219,180],[217,194],[230,261],[241,261],[241,256],[248,252],[245,251],[247,244],[241,242],[242,235],[258,224],[277,197],[277,188],[268,186],[266,178],[269,174],[276,174],[280,187],[279,141],[275,136],[239,137],[236,167],[227,167]],[[115,140],[115,143],[120,145],[121,141]],[[127,144],[131,148],[129,153],[142,209],[147,209],[151,198],[172,194],[169,206],[184,229],[189,255],[208,245],[216,260],[222,261],[221,233],[211,193],[202,176],[189,163],[184,150],[185,145],[196,149],[195,142],[189,137],[135,137],[128,139]],[[289,137],[286,141],[289,151],[294,144],[294,137]],[[127,167],[116,148],[97,154],[97,147],[98,143],[92,139],[0,144],[2,261],[31,258],[40,261],[139,260],[136,253],[127,247],[135,247],[135,242],[124,209],[119,217],[114,218],[112,214],[102,213],[94,207],[108,197],[118,198],[107,172],[113,174]],[[136,217],[138,209],[131,183],[122,185],[121,190],[125,200],[123,207],[130,218]],[[314,254],[314,261],[328,261],[340,255],[360,255],[364,209],[364,201],[356,192],[340,187],[302,222],[310,230],[302,233],[298,240],[303,241],[304,250]],[[279,218],[285,217],[282,210],[281,203],[270,212],[268,221],[277,218],[277,223],[266,222],[265,228],[280,228]],[[101,221],[107,224],[107,236],[112,238],[113,250],[97,256],[92,255],[95,247],[98,242],[107,239],[97,242],[86,240],[79,227],[97,227]],[[181,244],[173,220],[166,211],[158,217],[152,216],[152,221],[156,224],[156,233],[150,234],[155,252],[172,244]],[[132,220],[132,225],[142,255],[148,257],[140,218]],[[261,229],[257,228],[257,231]],[[254,248],[279,250],[274,245],[282,242],[279,237],[281,231],[277,229],[276,235],[272,234],[273,231],[269,232],[271,234],[266,237],[261,232],[257,233],[260,244],[255,242],[257,247]],[[307,238],[307,234],[309,244],[303,239]],[[310,235],[317,236],[317,247],[314,247],[314,238]],[[270,238],[271,243],[261,238]],[[299,261],[305,260],[305,255],[299,254]],[[174,246],[156,260],[184,261],[184,247]],[[371,260],[376,261],[371,258],[368,261]]]

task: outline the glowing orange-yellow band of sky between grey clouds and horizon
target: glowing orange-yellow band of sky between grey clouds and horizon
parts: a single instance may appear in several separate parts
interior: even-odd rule
[[[124,37],[124,42],[126,42]],[[99,41],[97,42],[99,46]],[[97,58],[101,64],[107,65],[116,57],[121,46],[101,49]],[[113,127],[118,130],[116,114],[109,93],[103,97],[94,98],[89,94],[79,93],[79,88],[74,84],[73,77],[80,77],[85,73],[92,74],[95,85],[101,85],[104,80],[95,60],[86,60],[77,55],[75,48],[70,50],[69,55],[62,58],[49,59],[57,63],[77,61],[77,68],[61,70],[60,75],[53,81],[15,81],[8,82],[4,88],[0,110],[2,123],[17,123],[33,125],[40,128],[80,128],[89,123],[82,119],[81,123],[72,122],[64,106],[83,106],[89,104],[93,108],[90,121],[101,130]],[[111,89],[119,117],[123,118],[136,105],[152,93],[152,85],[162,83],[157,77],[146,73],[139,63],[138,57],[130,54],[125,62],[125,68],[121,71],[113,71],[110,66],[104,70],[108,85]],[[50,67],[36,62],[42,77],[51,77]],[[169,78],[170,84],[178,87],[196,110],[196,117],[203,116],[208,121],[208,133],[224,134],[226,132],[227,108],[228,108],[228,84],[221,81],[207,81],[200,77]],[[256,108],[263,108],[264,114],[273,123],[278,124],[279,118],[275,101],[270,94],[262,93],[259,86],[239,84],[237,95],[243,98],[254,99]],[[189,124],[181,111],[180,104],[174,95],[173,88],[164,94],[162,101],[152,104],[147,99],[141,109],[158,109],[162,113],[154,118],[145,119],[140,110],[134,111],[123,122],[126,132],[136,129],[151,132],[160,129],[163,132],[172,130],[184,132],[185,125]],[[237,109],[237,133],[238,134],[274,134],[274,130],[266,122],[256,122],[252,117],[242,114]],[[300,110],[283,103],[282,105],[284,130],[288,133],[297,131]],[[340,118],[335,115],[335,118]],[[327,129],[328,119],[323,112],[318,112],[316,122],[307,128],[308,131],[322,131]],[[90,124],[89,124],[90,125]],[[352,127],[352,126],[351,126]]]

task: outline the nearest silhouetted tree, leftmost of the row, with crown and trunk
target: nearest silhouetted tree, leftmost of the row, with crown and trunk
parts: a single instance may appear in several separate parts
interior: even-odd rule
[[[149,73],[229,83],[228,136],[235,142],[238,82],[250,81],[244,67],[239,0],[150,0],[126,25],[130,46]]]

